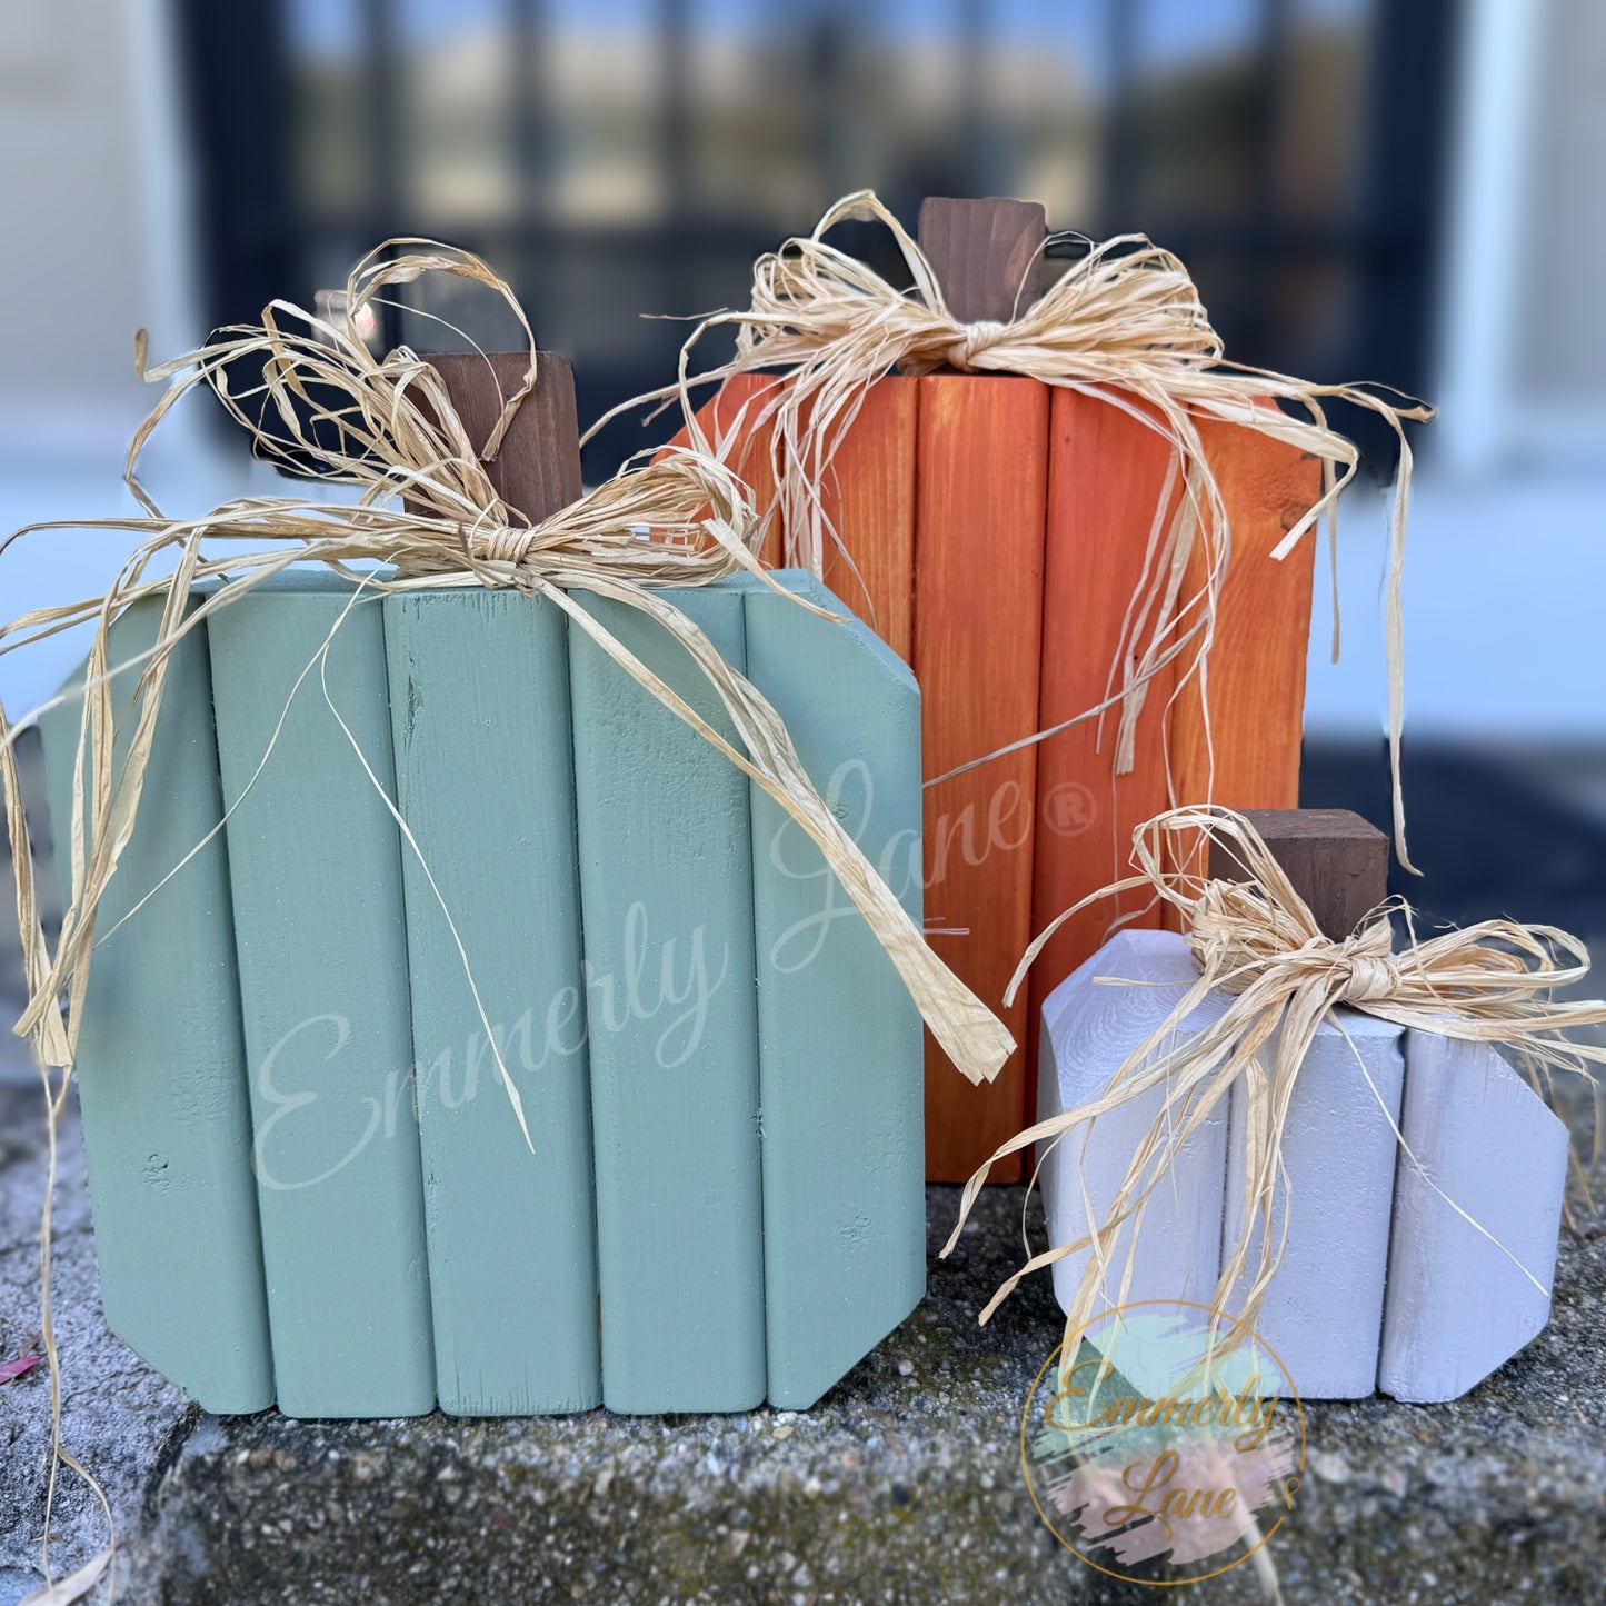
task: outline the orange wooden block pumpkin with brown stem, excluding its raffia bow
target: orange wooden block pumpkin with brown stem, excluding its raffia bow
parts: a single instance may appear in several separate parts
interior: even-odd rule
[[[1029,304],[1042,238],[1042,207],[1017,201],[931,199],[920,214],[922,249],[965,321],[1007,321]],[[774,485],[768,438],[763,427],[732,430],[732,419],[744,402],[756,419],[774,384],[737,376],[700,413],[710,437],[723,434],[732,461],[752,474],[760,507]],[[1129,774],[1115,774],[1110,719],[928,787],[931,941],[1001,1012],[1031,935],[1116,878],[1134,824],[1172,798],[1298,803],[1314,543],[1282,562],[1270,551],[1317,501],[1322,466],[1230,424],[1201,421],[1201,434],[1232,528],[1208,734],[1198,686],[1177,689],[1163,675],[1150,687]],[[827,548],[825,578],[914,665],[928,782],[1105,699],[1168,458],[1166,442],[1131,413],[1031,379],[888,374],[870,389],[817,487],[843,549]],[[906,472],[912,498],[888,488]],[[771,527],[766,552],[779,544]],[[1195,556],[1190,589],[1201,564]],[[933,1049],[928,1177],[967,1179],[1026,1124],[1025,1066],[1042,1004],[1116,914],[1134,911],[1089,911],[1049,944],[1029,989],[1002,1017],[1021,1049],[996,1082],[967,1086]],[[1020,1174],[1009,1160],[993,1177]]]

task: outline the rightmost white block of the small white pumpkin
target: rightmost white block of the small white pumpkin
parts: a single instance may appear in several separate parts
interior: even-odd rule
[[[1487,1044],[1412,1031],[1405,1052],[1400,1129],[1420,1168],[1400,1155],[1378,1388],[1426,1404],[1543,1331],[1567,1129]]]

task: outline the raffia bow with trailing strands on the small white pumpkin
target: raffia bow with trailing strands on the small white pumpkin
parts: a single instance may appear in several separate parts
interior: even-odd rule
[[[1249,872],[1248,880],[1213,882],[1179,867],[1206,862],[1198,850],[1213,837],[1232,843],[1233,856]],[[1111,1299],[1119,1302],[1131,1278],[1134,1246],[1150,1195],[1187,1139],[1214,1110],[1224,1108],[1232,1086],[1238,1082],[1248,1116],[1245,1225],[1225,1257],[1213,1302],[1224,1307],[1232,1290],[1253,1274],[1241,1307],[1233,1310],[1253,1328],[1282,1257],[1288,1211],[1296,1208],[1282,1158],[1290,1095],[1317,1029],[1333,1018],[1336,1004],[1397,1026],[1498,1044],[1514,1050],[1535,1079],[1547,1082],[1556,1071],[1598,1082],[1590,1066],[1606,1065],[1606,1047],[1564,1036],[1575,1028],[1606,1025],[1606,1002],[1556,1002],[1550,996],[1558,986],[1580,981],[1590,968],[1584,944],[1555,927],[1484,920],[1426,941],[1416,940],[1412,927],[1408,944],[1394,952],[1391,914],[1404,912],[1410,923],[1410,911],[1404,904],[1386,904],[1354,935],[1333,941],[1322,933],[1249,821],[1224,808],[1192,806],[1156,814],[1134,832],[1132,869],[1135,874],[1131,877],[1065,911],[1033,941],[1007,999],[1013,997],[1060,923],[1087,904],[1127,890],[1147,890],[1177,909],[1190,933],[1188,943],[1200,967],[1198,981],[1187,988],[1164,1023],[1127,1054],[1099,1099],[1020,1132],[976,1171],[965,1184],[959,1221],[943,1254],[949,1254],[959,1241],[996,1161],[1033,1143],[1063,1142],[1078,1129],[1086,1134],[1100,1116],[1153,1089],[1163,1089],[1164,1102],[1132,1153],[1103,1221],[1074,1243],[1052,1245],[1029,1256],[988,1302],[983,1322],[1023,1277],[1087,1249],[1087,1269],[1071,1298],[1065,1328],[1066,1336],[1076,1333],[1092,1319],[1110,1286],[1115,1238],[1131,1221],[1132,1243]],[[1182,1021],[1211,989],[1230,994],[1227,1009],[1211,1025],[1179,1039]],[[1359,1054],[1355,1063],[1365,1074]],[[1420,1171],[1392,1118],[1389,1124],[1407,1161]],[[1426,1180],[1444,1198],[1433,1179]],[[1453,1200],[1445,1203],[1490,1237]],[[1251,1266],[1249,1245],[1256,1235],[1259,1254]],[[1497,1240],[1490,1241],[1503,1249]],[[1513,1264],[1543,1290],[1527,1267]]]

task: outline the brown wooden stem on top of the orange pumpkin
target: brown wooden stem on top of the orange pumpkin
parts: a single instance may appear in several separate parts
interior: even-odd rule
[[[1047,217],[1036,201],[928,196],[920,249],[960,323],[1009,323],[1036,299]]]

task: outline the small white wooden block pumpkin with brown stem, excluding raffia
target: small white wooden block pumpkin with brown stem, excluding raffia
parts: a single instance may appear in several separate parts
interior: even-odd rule
[[[1254,819],[1327,935],[1347,935],[1381,899],[1380,832],[1343,811]],[[1219,851],[1211,874],[1237,878]],[[1121,931],[1087,959],[1044,1007],[1039,1116],[1099,1099],[1198,978],[1174,931]],[[1171,1047],[1225,1007],[1219,989],[1206,993]],[[1145,1090],[1047,1150],[1054,1245],[1105,1219],[1161,1107],[1163,1089]],[[1217,1302],[1227,1248],[1243,1237],[1246,1121],[1238,1081],[1160,1177],[1129,1272],[1132,1225],[1118,1230],[1100,1309]],[[1567,1137],[1490,1044],[1336,1007],[1288,1095],[1282,1163],[1277,1232],[1286,1237],[1254,1331],[1306,1399],[1457,1399],[1543,1330]],[[1253,1232],[1249,1245],[1253,1267]],[[1066,1310],[1089,1257],[1081,1249],[1054,1266]],[[1227,1290],[1222,1309],[1238,1314],[1243,1294]]]

